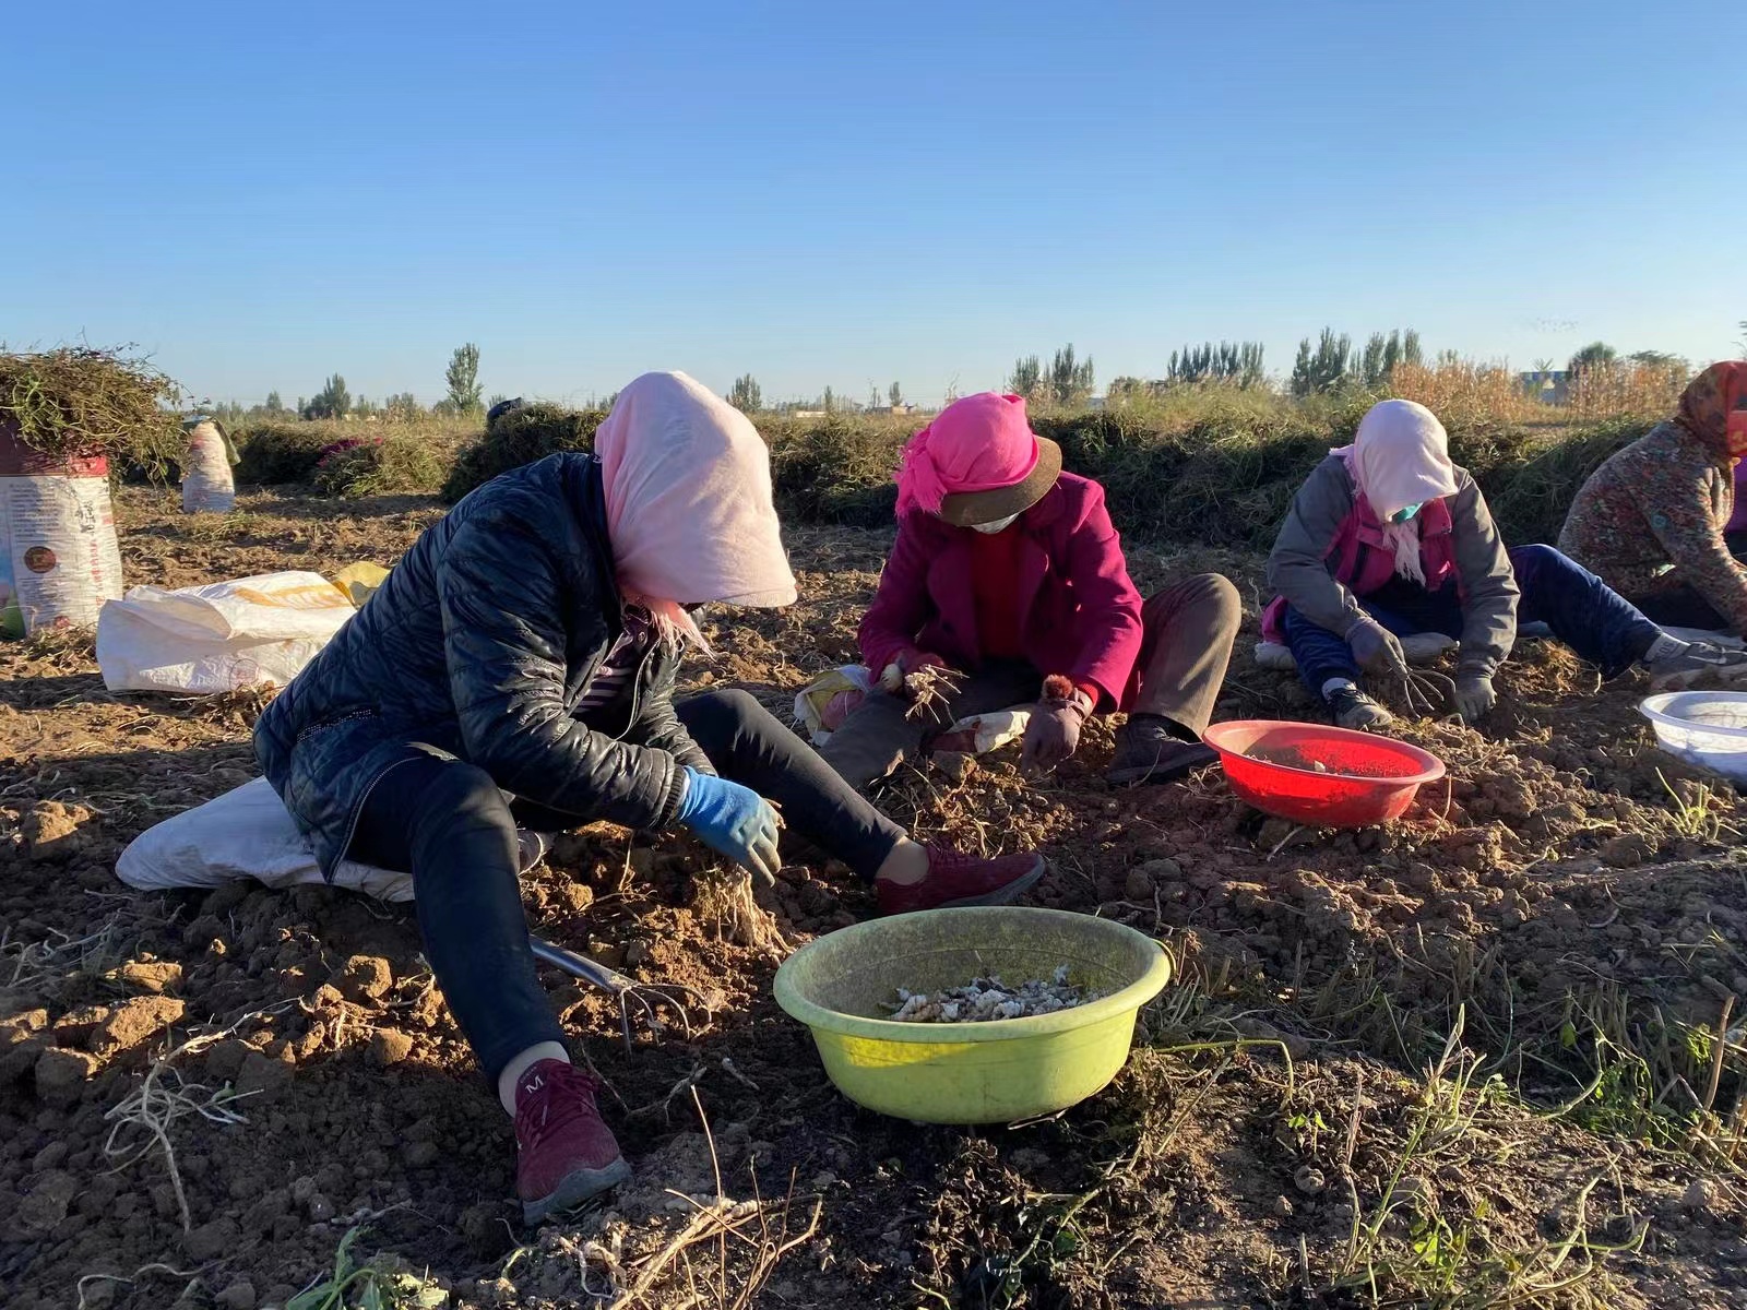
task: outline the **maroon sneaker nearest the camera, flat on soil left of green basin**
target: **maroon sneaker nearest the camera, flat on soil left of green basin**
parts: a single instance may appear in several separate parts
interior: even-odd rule
[[[594,1107],[596,1086],[564,1060],[540,1060],[515,1085],[515,1191],[531,1224],[631,1177]]]

